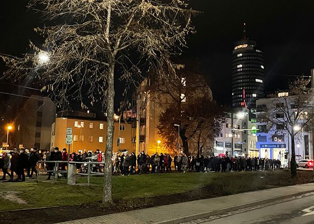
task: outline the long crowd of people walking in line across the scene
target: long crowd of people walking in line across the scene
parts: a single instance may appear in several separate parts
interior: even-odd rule
[[[38,165],[37,162],[40,160],[46,162]],[[52,161],[61,161],[58,163],[57,170],[64,171],[64,173],[66,173],[68,161],[78,162],[76,166],[80,173],[87,173],[85,162],[99,162],[92,163],[90,166],[91,172],[98,173],[104,172],[105,153],[97,149],[94,153],[84,150],[69,155],[67,149],[59,150],[58,147],[44,152],[35,148],[30,150],[14,149],[10,154],[3,151],[0,153],[0,169],[3,171],[3,177],[0,180],[6,180],[6,176],[8,176],[8,181],[25,181],[26,177],[32,178],[33,174],[37,174],[37,168],[45,169],[48,173],[47,179],[51,179],[53,171],[56,170],[55,163]],[[268,171],[280,167],[281,161],[278,159],[229,157],[228,154],[193,156],[182,152],[172,157],[166,153],[154,153],[149,156],[142,151],[136,156],[134,152],[125,151],[122,153],[115,152],[112,156],[112,174],[120,175],[168,172]],[[14,174],[16,174],[16,178],[14,178]]]

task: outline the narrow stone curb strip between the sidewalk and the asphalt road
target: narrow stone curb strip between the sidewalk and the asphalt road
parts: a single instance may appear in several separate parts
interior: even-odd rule
[[[218,214],[222,214],[222,213],[226,213],[226,212],[232,212],[232,211],[236,211],[236,210],[243,209],[243,208],[248,208],[248,207],[257,206],[257,205],[261,205],[261,204],[266,204],[266,203],[276,201],[276,200],[288,199],[288,198],[292,198],[292,197],[296,197],[296,196],[300,196],[300,195],[304,195],[304,194],[308,194],[308,193],[313,193],[313,192],[314,192],[314,190],[298,192],[298,193],[294,193],[294,194],[290,194],[290,195],[275,197],[272,199],[258,200],[258,201],[254,201],[254,202],[250,202],[250,203],[245,203],[245,204],[235,205],[235,206],[231,206],[231,207],[221,208],[218,210],[212,210],[212,211],[193,214],[193,215],[189,215],[189,216],[183,216],[183,217],[177,218],[177,219],[160,221],[160,222],[153,223],[153,224],[181,224],[181,223],[193,221],[196,219],[203,219],[203,218],[213,216],[213,215],[218,215]]]

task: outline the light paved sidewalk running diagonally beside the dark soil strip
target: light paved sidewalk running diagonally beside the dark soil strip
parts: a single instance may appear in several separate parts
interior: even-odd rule
[[[314,183],[169,204],[62,224],[180,224],[309,192],[314,192]]]

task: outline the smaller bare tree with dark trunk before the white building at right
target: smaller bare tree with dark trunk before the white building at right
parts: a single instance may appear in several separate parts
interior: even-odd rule
[[[296,176],[295,161],[295,137],[297,134],[313,120],[313,89],[308,88],[311,80],[298,78],[288,86],[288,94],[276,98],[267,105],[266,113],[260,118],[268,122],[270,131],[277,134],[286,132],[291,138],[291,176]]]

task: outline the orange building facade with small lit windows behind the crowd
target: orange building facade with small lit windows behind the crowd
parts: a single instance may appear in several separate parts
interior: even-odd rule
[[[52,124],[51,147],[69,148],[66,144],[67,128],[72,128],[73,141],[70,152],[105,151],[107,122],[79,118],[56,118]],[[119,131],[120,129],[120,131]],[[118,146],[118,141],[120,146]],[[113,152],[131,151],[131,124],[114,123]]]

